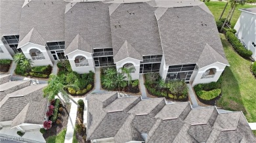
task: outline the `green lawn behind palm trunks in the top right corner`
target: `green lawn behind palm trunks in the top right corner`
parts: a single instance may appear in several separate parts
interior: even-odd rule
[[[205,5],[207,5],[207,7],[211,10],[211,12],[213,13],[215,20],[219,20],[219,17],[221,16],[221,12],[223,12],[223,9],[226,5],[225,2],[221,2],[221,1],[210,1],[209,3],[205,2]],[[236,24],[236,21],[238,20],[241,11],[238,10],[238,8],[250,8],[250,7],[256,7],[256,6],[252,6],[252,5],[238,5],[236,7],[236,11],[233,14],[232,20],[231,20],[231,26],[234,27],[234,25]],[[230,5],[228,5],[226,7],[226,10],[223,14],[223,18],[226,18],[226,16],[228,15],[228,12],[230,10]]]

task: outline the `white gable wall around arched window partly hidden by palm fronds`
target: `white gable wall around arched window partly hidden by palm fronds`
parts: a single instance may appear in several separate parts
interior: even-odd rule
[[[140,61],[138,59],[133,59],[131,57],[127,57],[121,61],[118,61],[116,63],[116,70],[117,72],[121,72],[121,67],[125,65],[126,63],[133,63],[133,66],[135,67],[135,73],[131,73],[132,80],[139,80],[140,77]],[[120,70],[119,70],[120,69]]]

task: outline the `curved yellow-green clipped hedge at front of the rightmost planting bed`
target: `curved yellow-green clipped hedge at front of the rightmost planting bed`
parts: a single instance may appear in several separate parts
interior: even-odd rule
[[[198,97],[200,97],[201,99],[204,100],[211,100],[214,99],[215,97],[219,96],[221,94],[221,89],[213,89],[211,91],[197,91],[196,94],[198,95]]]

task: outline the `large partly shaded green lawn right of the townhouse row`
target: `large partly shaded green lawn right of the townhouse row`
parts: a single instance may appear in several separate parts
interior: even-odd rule
[[[256,122],[256,79],[250,72],[251,61],[236,54],[223,34],[221,40],[230,67],[223,72],[223,96],[217,106],[226,110],[242,110],[248,122]]]

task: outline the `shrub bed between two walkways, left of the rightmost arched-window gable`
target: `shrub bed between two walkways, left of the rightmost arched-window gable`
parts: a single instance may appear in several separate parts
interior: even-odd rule
[[[158,72],[144,74],[145,87],[148,93],[177,101],[188,101],[188,88],[184,80],[165,82]]]

